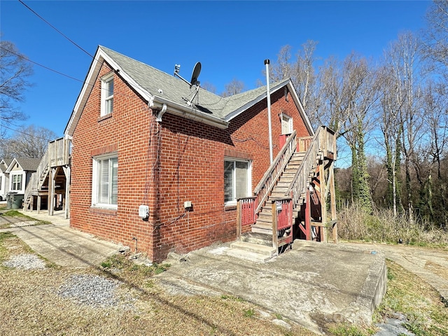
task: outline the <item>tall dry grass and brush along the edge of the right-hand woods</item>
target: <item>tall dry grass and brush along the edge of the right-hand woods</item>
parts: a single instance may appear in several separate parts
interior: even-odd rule
[[[425,229],[423,223],[409,221],[406,216],[393,216],[387,209],[366,214],[356,204],[344,207],[338,214],[337,232],[345,240],[376,241],[419,246],[447,246],[448,232]]]

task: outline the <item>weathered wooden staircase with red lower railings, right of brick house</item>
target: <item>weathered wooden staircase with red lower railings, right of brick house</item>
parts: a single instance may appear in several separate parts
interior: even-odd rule
[[[302,140],[306,141],[306,145]],[[328,182],[334,184],[334,160],[335,137],[331,130],[320,128],[311,141],[310,137],[295,139],[295,132],[291,134],[255,188],[255,196],[239,200],[238,239],[231,244],[228,254],[255,262],[265,262],[286,251],[294,237],[298,237],[300,232],[295,234],[294,227],[299,228],[306,239],[312,239],[311,224],[318,226],[322,237],[326,235],[324,228],[327,218],[326,212],[322,210],[324,207],[326,209],[326,195],[325,192],[316,192],[314,186],[325,190],[325,176],[328,177]],[[311,197],[310,193],[314,197]],[[334,199],[334,190],[331,197]],[[320,205],[320,217],[311,219],[310,209],[313,204],[316,207],[316,203],[324,205]],[[331,202],[332,220],[335,220],[333,203]],[[304,209],[308,211],[303,211]],[[303,214],[308,214],[308,218],[302,218]]]

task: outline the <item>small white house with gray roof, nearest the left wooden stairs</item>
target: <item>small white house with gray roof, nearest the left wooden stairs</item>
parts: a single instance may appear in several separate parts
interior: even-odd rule
[[[16,194],[24,194],[25,188],[31,174],[36,172],[37,167],[41,162],[41,159],[30,159],[30,158],[14,158],[8,168],[6,173],[9,174],[9,192]]]

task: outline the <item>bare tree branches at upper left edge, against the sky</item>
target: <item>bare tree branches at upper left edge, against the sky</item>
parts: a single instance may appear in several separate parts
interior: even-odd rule
[[[31,73],[31,64],[15,45],[0,41],[0,138],[5,133],[2,126],[26,119],[15,103],[25,99],[25,89],[30,86],[27,78]]]

